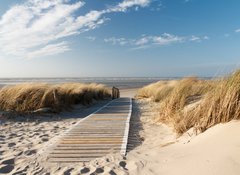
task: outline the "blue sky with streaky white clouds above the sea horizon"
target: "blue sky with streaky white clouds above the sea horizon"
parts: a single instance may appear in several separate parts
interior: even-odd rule
[[[239,0],[4,0],[0,77],[218,76],[240,66]]]

